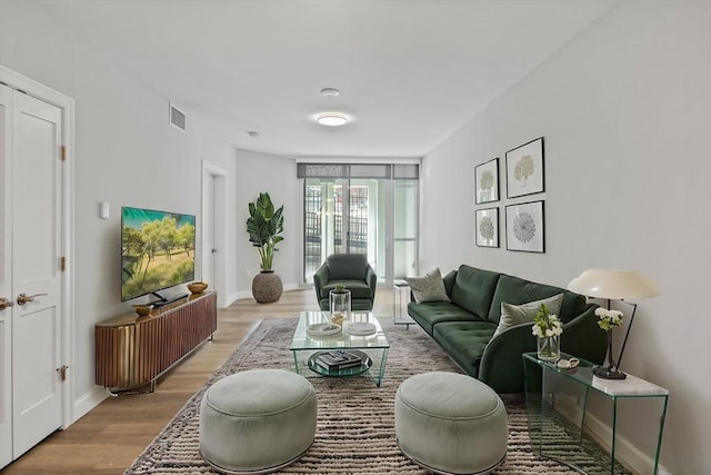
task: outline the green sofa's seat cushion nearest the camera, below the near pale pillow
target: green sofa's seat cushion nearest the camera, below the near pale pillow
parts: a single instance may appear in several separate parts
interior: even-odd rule
[[[434,340],[469,375],[479,376],[479,363],[497,325],[491,321],[445,321],[434,326]]]

